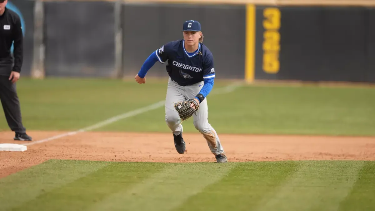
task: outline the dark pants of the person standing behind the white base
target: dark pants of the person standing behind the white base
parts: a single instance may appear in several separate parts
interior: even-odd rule
[[[9,80],[9,76],[0,75],[0,99],[9,128],[16,133],[25,133],[16,84]]]

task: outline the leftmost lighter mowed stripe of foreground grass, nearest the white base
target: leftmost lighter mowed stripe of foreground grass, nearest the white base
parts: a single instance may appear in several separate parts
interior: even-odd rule
[[[10,210],[55,188],[89,175],[107,163],[49,160],[0,179],[0,210]],[[24,207],[30,210],[28,204]]]

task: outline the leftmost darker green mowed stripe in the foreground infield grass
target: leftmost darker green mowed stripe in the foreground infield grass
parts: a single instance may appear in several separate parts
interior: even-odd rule
[[[81,211],[112,193],[138,184],[164,167],[165,164],[160,163],[109,163],[90,175],[46,192],[13,210]],[[70,173],[66,171],[64,175]]]

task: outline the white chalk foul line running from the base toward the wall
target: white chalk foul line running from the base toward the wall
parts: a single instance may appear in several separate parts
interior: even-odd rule
[[[240,85],[236,84],[236,85],[229,85],[229,86],[226,86],[226,87],[222,87],[222,88],[216,89],[215,90],[216,92],[212,93],[211,95],[233,92],[233,90],[236,89],[239,86]],[[126,119],[126,118],[129,118],[129,117],[136,116],[138,114],[144,113],[144,112],[148,112],[148,111],[151,111],[151,110],[154,110],[154,109],[158,109],[159,107],[162,107],[164,105],[164,103],[165,103],[164,100],[159,101],[159,102],[156,102],[152,105],[148,105],[148,106],[142,107],[140,109],[136,109],[136,110],[133,110],[133,111],[130,111],[130,112],[126,112],[126,113],[114,116],[114,117],[109,118],[105,121],[99,122],[98,124],[95,124],[95,125],[92,125],[92,126],[89,126],[89,127],[86,127],[86,128],[82,128],[82,129],[77,130],[77,131],[71,131],[71,132],[68,132],[68,133],[63,133],[63,134],[52,136],[52,137],[49,137],[49,138],[46,138],[46,139],[33,141],[33,142],[30,142],[30,143],[24,143],[23,145],[24,146],[30,146],[30,145],[34,145],[34,144],[37,144],[37,143],[49,142],[51,140],[59,139],[59,138],[62,138],[62,137],[73,136],[73,135],[78,134],[78,133],[82,133],[82,132],[86,132],[86,131],[90,131],[90,130],[95,130],[95,129],[103,127],[105,125],[109,125],[113,122],[117,122],[120,119]]]

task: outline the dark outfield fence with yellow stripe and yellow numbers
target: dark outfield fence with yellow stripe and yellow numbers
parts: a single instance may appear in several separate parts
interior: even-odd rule
[[[375,82],[374,0],[8,1],[23,20],[22,74],[35,78],[133,77],[194,19],[217,78]]]

